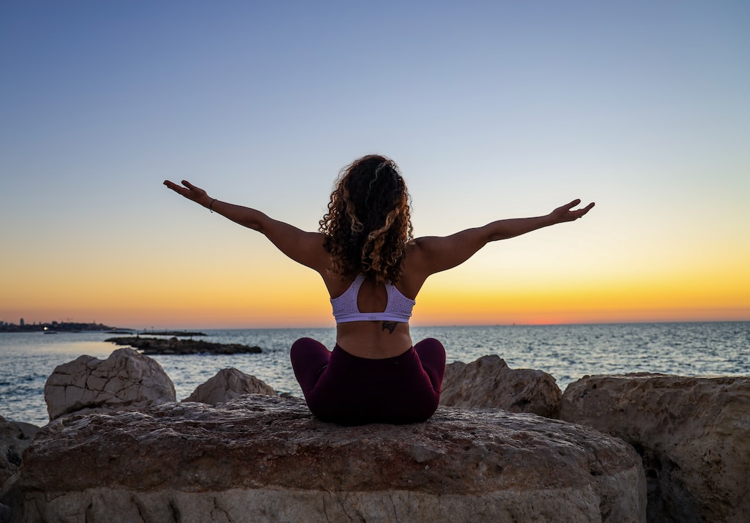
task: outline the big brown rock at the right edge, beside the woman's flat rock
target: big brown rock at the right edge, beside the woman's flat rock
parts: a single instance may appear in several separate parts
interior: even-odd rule
[[[643,457],[652,522],[750,521],[750,378],[586,376],[560,417]]]

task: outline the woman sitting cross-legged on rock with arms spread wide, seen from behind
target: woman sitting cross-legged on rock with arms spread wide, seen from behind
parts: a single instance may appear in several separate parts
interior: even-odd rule
[[[409,319],[431,274],[466,262],[490,241],[577,220],[593,203],[574,200],[550,214],[499,220],[446,237],[413,238],[409,193],[398,166],[369,155],[342,170],[319,232],[303,232],[260,211],[211,198],[187,181],[166,187],[233,222],[263,233],[326,283],[336,346],[314,339],[292,346],[292,366],[308,407],[346,424],[413,423],[437,409],[446,353],[437,339],[413,345]]]

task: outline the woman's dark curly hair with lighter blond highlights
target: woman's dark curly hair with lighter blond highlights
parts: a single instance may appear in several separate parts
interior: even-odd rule
[[[413,240],[409,201],[404,178],[389,158],[371,154],[342,169],[320,220],[330,272],[398,282]]]

